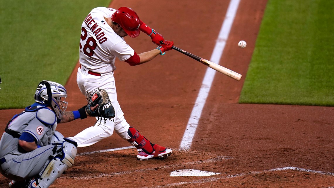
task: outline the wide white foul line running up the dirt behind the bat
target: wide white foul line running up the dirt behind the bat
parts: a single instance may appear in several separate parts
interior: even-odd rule
[[[225,15],[225,20],[221,26],[217,42],[214,46],[214,49],[213,49],[213,52],[210,58],[210,61],[213,63],[219,64],[221,55],[225,48],[228,34],[231,30],[231,27],[234,21],[234,17],[235,17],[236,11],[239,6],[239,2],[240,0],[230,1],[230,4],[228,6],[228,9]],[[186,130],[181,140],[180,149],[189,150],[191,146],[192,139],[194,138],[195,131],[198,125],[198,121],[199,121],[199,118],[201,117],[202,110],[203,110],[206,98],[209,94],[215,73],[216,71],[209,67],[206,69],[206,73],[202,81],[201,89],[199,90],[195,105],[191,111]]]

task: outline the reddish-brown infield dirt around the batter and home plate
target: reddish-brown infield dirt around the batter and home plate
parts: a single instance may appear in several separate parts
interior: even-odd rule
[[[143,1],[114,0],[110,6],[133,8],[175,46],[210,59],[229,0],[144,2],[145,6]],[[73,167],[50,187],[333,187],[333,107],[237,104],[266,3],[240,1],[220,65],[243,78],[237,82],[216,74],[189,150],[180,150],[180,142],[206,67],[176,51],[135,67],[117,61],[118,99],[127,121],[173,154],[164,160],[138,161],[133,148],[89,153],[130,146],[114,134],[78,148]],[[155,48],[143,33],[125,39],[137,53]],[[247,41],[245,49],[237,46],[239,40]],[[65,87],[68,110],[86,103],[76,85],[76,69]],[[20,111],[1,110],[1,128]],[[94,121],[59,124],[58,130],[73,136]],[[170,176],[184,169],[219,174]],[[0,187],[8,182],[0,177]]]

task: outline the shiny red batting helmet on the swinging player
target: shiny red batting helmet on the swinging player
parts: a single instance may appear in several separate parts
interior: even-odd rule
[[[111,17],[112,21],[121,25],[124,31],[131,37],[139,35],[140,20],[135,11],[128,7],[121,7]]]

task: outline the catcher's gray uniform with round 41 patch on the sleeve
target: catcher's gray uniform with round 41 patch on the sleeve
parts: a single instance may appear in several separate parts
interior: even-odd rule
[[[23,181],[31,178],[36,179],[36,177],[39,178],[42,176],[45,168],[50,168],[48,166],[49,163],[55,163],[54,159],[58,158],[60,159],[58,161],[64,161],[64,159],[68,158],[66,154],[68,155],[68,153],[71,152],[66,152],[64,151],[65,149],[58,151],[64,146],[69,146],[68,142],[64,142],[64,140],[61,139],[57,144],[50,143],[51,141],[53,142],[53,134],[56,126],[55,113],[43,104],[35,103],[28,106],[22,113],[15,115],[8,123],[1,137],[0,172],[6,178],[15,181]],[[31,152],[26,152],[20,147],[19,139],[29,140],[29,138],[30,140],[32,138],[35,140],[38,148]],[[72,146],[70,147],[75,148],[74,145]],[[73,152],[74,151],[72,151],[72,154]],[[71,156],[73,160],[75,154]],[[64,167],[58,170],[62,170],[63,172],[66,170],[67,166],[71,166],[66,163],[64,165],[64,163],[65,162],[61,163]],[[53,178],[50,179],[52,180]],[[43,185],[42,180],[39,181],[39,184]],[[44,185],[48,187],[51,183],[48,182]],[[30,182],[29,187],[37,187],[34,180]]]

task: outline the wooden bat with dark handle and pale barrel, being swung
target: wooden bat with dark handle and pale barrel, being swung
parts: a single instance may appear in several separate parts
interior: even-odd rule
[[[231,78],[233,78],[233,79],[235,79],[235,80],[237,80],[237,81],[240,81],[240,79],[241,79],[241,77],[242,77],[241,74],[238,74],[238,73],[236,73],[236,72],[234,72],[234,71],[231,71],[231,70],[229,70],[229,69],[227,69],[227,68],[225,68],[225,67],[223,67],[223,66],[220,66],[220,65],[218,65],[218,64],[215,64],[215,63],[213,63],[213,62],[210,62],[210,61],[208,61],[208,60],[206,60],[206,59],[203,59],[203,58],[200,58],[200,57],[195,56],[195,55],[193,55],[193,54],[190,54],[189,52],[186,52],[186,51],[184,51],[184,50],[182,50],[182,49],[179,49],[179,48],[177,48],[177,47],[175,47],[175,46],[172,46],[172,49],[174,49],[174,50],[176,50],[176,51],[178,51],[178,52],[181,52],[182,54],[184,54],[184,55],[186,55],[186,56],[189,56],[189,57],[191,57],[192,59],[194,59],[194,60],[196,60],[196,61],[199,61],[200,63],[202,63],[202,64],[204,64],[204,65],[210,67],[211,69],[213,69],[213,70],[215,70],[215,71],[218,71],[218,72],[220,72],[220,73],[222,73],[222,74],[224,74],[224,75],[226,75],[226,76],[229,76],[229,77],[231,77]]]

